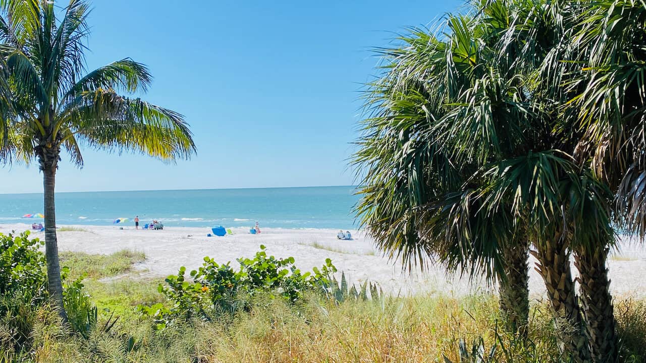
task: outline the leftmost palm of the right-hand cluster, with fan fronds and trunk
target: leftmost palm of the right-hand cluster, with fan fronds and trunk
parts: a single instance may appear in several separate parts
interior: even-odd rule
[[[478,185],[471,176],[479,165],[496,158],[484,153],[466,155],[459,150],[461,145],[453,143],[459,137],[443,134],[448,123],[474,116],[464,115],[470,109],[463,107],[464,97],[474,96],[469,92],[499,86],[481,83],[492,76],[486,65],[492,52],[479,47],[482,42],[495,43],[497,25],[476,24],[470,17],[450,16],[446,40],[413,29],[411,36],[400,38],[404,47],[379,50],[388,59],[387,72],[369,85],[366,110],[370,116],[364,121],[364,136],[353,160],[366,172],[357,213],[380,247],[391,257],[401,257],[409,267],[423,267],[427,256],[435,256],[453,271],[468,270],[472,276],[485,273],[488,279],[499,281],[508,327],[525,334],[529,310],[526,234],[522,229],[508,233],[515,229],[509,223],[508,228],[501,228],[484,214],[470,214],[477,211],[475,207],[461,211],[466,211],[466,219],[440,213],[455,212],[454,207],[443,205],[446,196],[468,194],[463,188]],[[494,78],[499,76],[494,74]],[[513,88],[514,81],[510,83]],[[475,117],[522,118],[525,113],[512,99],[485,109],[477,109],[483,113]],[[497,131],[501,138],[510,137],[503,129]],[[461,198],[453,200],[463,205]],[[428,213],[430,205],[440,212]],[[461,225],[463,229],[453,224],[464,220],[469,223]],[[477,227],[472,229],[472,224]],[[491,233],[494,230],[500,233]]]

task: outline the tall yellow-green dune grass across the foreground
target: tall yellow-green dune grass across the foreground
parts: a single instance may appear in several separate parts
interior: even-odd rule
[[[98,279],[129,271],[143,258],[132,251],[109,256],[66,253],[72,273],[87,269],[94,276],[87,279],[86,287],[98,307],[99,324],[89,338],[81,338],[61,327],[56,313],[47,308],[34,311],[33,353],[25,361],[460,363],[461,344],[468,349],[475,344],[486,353],[495,346],[492,360],[464,362],[559,361],[554,324],[545,304],[533,304],[530,341],[523,344],[502,333],[497,298],[485,294],[351,299],[340,304],[309,295],[296,305],[260,295],[249,311],[222,321],[189,320],[155,331],[136,306],[165,302],[156,291],[161,279]],[[105,331],[110,316],[118,320]],[[643,362],[646,303],[620,300],[616,316],[621,362]],[[2,329],[0,321],[0,338]]]

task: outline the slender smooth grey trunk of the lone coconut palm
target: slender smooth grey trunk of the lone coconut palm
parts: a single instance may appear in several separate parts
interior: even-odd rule
[[[54,160],[52,160],[54,159]],[[67,322],[67,313],[63,306],[63,284],[61,266],[58,260],[58,243],[56,240],[56,210],[54,208],[54,187],[56,185],[56,165],[58,156],[41,157],[43,171],[43,190],[45,194],[45,257],[47,258],[47,291],[57,307],[63,322]]]

